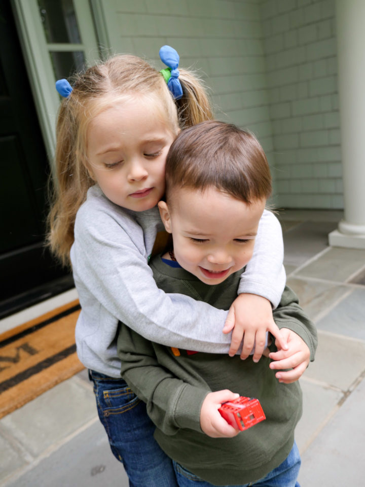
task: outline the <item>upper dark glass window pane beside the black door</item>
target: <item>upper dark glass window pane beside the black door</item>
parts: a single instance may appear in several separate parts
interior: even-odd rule
[[[38,0],[48,43],[81,44],[72,0]]]

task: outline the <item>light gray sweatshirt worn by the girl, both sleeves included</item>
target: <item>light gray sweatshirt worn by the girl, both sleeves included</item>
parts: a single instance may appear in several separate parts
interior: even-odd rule
[[[160,230],[157,207],[132,212],[109,201],[98,185],[89,189],[76,216],[70,254],[82,308],[77,352],[85,367],[120,377],[119,321],[163,345],[228,353],[231,335],[222,333],[226,310],[158,289],[148,258]],[[238,293],[264,296],[275,308],[285,286],[282,261],[280,224],[265,211]]]

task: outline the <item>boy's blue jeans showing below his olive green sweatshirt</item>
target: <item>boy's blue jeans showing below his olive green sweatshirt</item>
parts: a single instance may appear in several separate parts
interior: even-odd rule
[[[179,487],[213,487],[213,484],[205,482],[184,467],[181,467],[178,463],[173,463]],[[294,446],[286,460],[274,468],[274,470],[271,470],[265,477],[251,483],[245,483],[244,485],[236,485],[235,487],[249,487],[250,485],[252,487],[300,487],[297,482],[300,465],[301,458],[297,444],[294,442]],[[224,487],[234,486],[225,485]]]

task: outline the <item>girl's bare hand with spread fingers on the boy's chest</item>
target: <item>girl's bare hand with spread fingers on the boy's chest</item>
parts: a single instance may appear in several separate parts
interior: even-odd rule
[[[253,361],[259,362],[269,331],[276,338],[280,348],[287,350],[287,344],[274,322],[271,303],[268,299],[256,294],[240,294],[232,303],[223,333],[232,331],[229,355],[233,357],[243,338],[241,359],[246,359],[255,347]]]

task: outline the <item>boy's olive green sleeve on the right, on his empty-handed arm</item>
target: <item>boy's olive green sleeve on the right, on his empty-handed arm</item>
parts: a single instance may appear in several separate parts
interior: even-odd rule
[[[273,317],[278,328],[288,328],[306,342],[310,351],[310,360],[313,362],[318,344],[316,327],[299,305],[297,295],[287,286],[279,306],[273,312]]]

